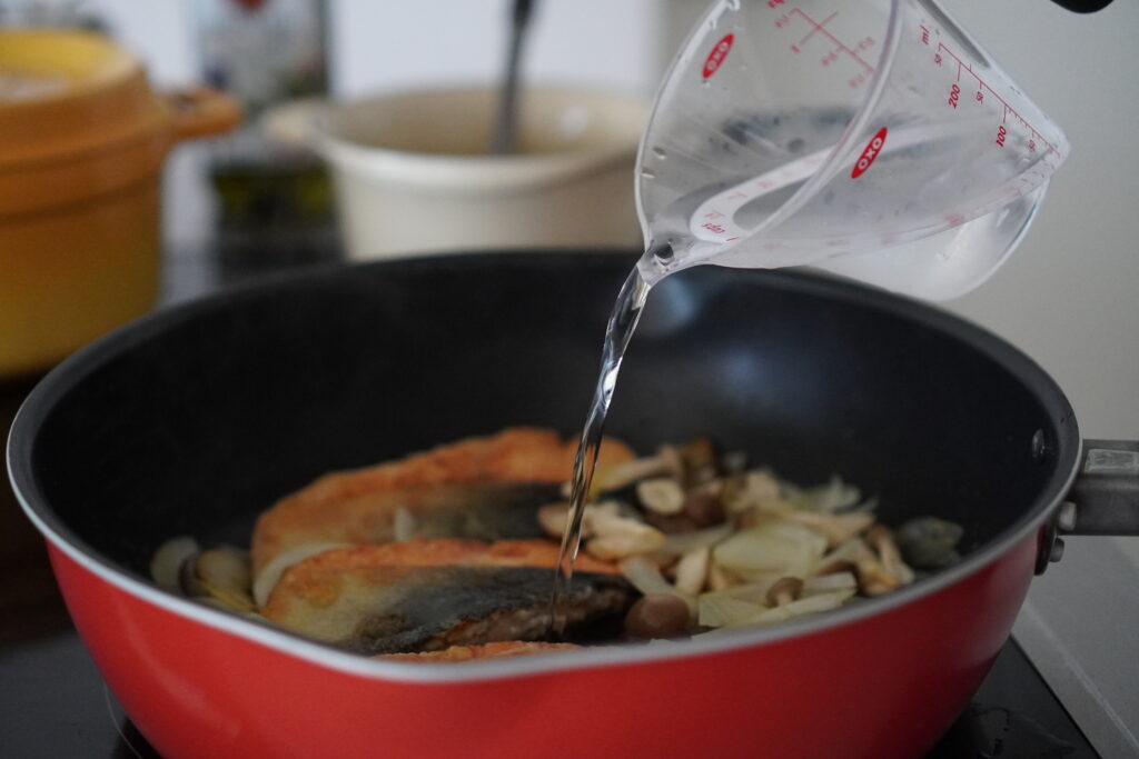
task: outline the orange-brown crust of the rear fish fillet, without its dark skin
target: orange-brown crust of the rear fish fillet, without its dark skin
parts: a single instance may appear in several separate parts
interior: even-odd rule
[[[437,500],[437,486],[492,482],[562,482],[570,478],[575,442],[535,428],[510,428],[405,459],[326,475],[278,501],[253,533],[254,575],[278,553],[305,543],[391,541],[394,513],[417,500]],[[628,461],[633,452],[606,438],[598,465]]]

